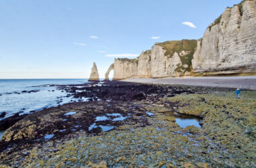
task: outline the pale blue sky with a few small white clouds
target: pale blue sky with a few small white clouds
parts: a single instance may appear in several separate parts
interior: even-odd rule
[[[89,78],[93,62],[104,78],[115,58],[202,38],[240,1],[1,0],[0,79]]]

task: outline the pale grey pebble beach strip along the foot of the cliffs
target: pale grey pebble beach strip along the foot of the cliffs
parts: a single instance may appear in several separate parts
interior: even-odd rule
[[[242,77],[168,77],[158,79],[123,79],[135,83],[156,83],[172,85],[195,85],[207,87],[230,87],[256,90],[256,76]]]

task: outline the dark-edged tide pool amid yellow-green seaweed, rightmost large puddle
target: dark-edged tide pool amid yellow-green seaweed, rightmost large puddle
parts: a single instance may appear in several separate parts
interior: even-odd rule
[[[167,116],[172,116],[176,119],[176,123],[183,128],[186,128],[187,126],[196,126],[198,128],[201,128],[199,122],[200,118],[197,118],[195,116],[186,115],[186,114],[180,114],[175,115],[173,112],[167,112]]]

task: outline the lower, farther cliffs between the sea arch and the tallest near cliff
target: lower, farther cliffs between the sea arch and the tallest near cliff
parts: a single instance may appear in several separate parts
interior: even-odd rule
[[[196,44],[196,40],[167,41],[156,43],[152,50],[142,52],[135,59],[117,58],[113,79],[185,75],[191,71],[191,59]]]

